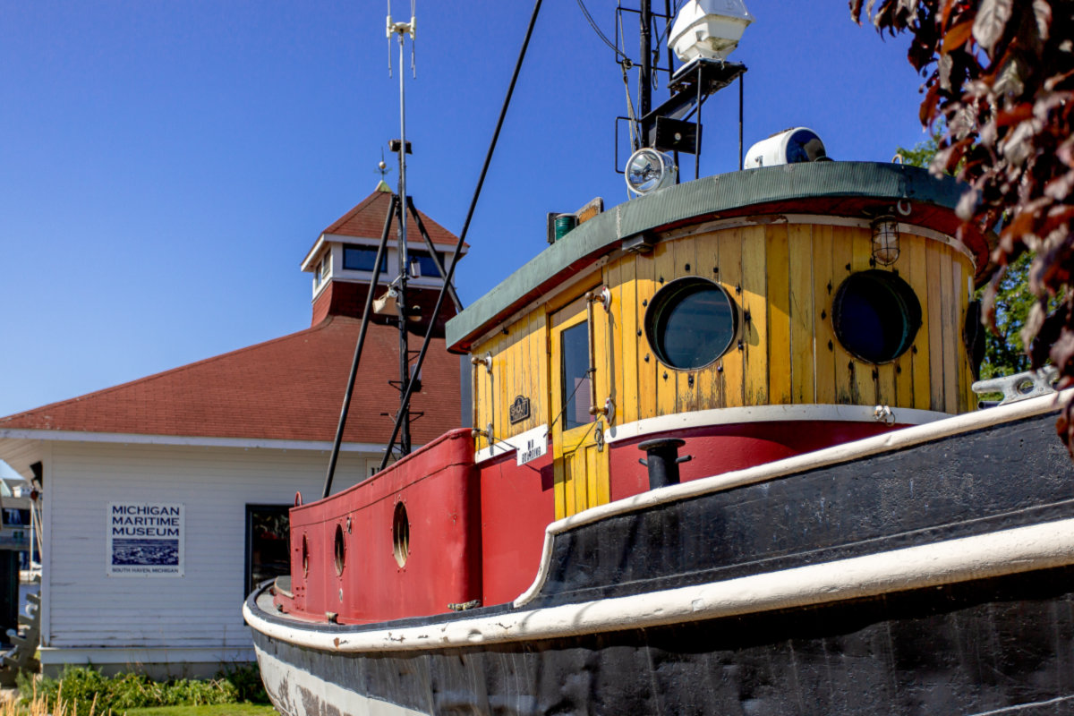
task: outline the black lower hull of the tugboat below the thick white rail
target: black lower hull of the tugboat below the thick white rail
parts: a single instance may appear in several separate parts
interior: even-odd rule
[[[480,648],[339,655],[255,635],[297,672],[427,714],[1074,714],[1070,568]],[[347,713],[304,690],[277,707]]]

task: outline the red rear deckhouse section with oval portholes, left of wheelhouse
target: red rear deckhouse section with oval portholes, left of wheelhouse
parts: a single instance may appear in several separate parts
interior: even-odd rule
[[[404,565],[393,551],[397,503],[409,523]],[[287,608],[361,623],[439,614],[449,604],[480,599],[479,510],[473,443],[464,429],[331,499],[292,509],[294,598]],[[342,570],[334,552],[337,528],[345,549]]]

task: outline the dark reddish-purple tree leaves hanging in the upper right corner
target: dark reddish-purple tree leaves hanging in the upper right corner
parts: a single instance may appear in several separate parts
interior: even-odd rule
[[[1032,306],[1022,339],[1031,364],[1050,360],[1074,385],[1074,2],[1071,0],[850,0],[880,32],[911,35],[925,77],[918,116],[943,126],[933,171],[970,185],[963,229],[1005,217],[985,313],[1027,250]],[[962,231],[960,230],[960,231]],[[1050,306],[1055,310],[1049,310]],[[1074,455],[1074,403],[1058,432]]]

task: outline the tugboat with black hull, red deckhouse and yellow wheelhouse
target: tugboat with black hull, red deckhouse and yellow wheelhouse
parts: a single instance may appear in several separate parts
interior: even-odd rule
[[[750,19],[686,3],[637,195],[448,322],[474,427],[296,497],[282,714],[1074,713],[1074,467],[1047,377],[976,409],[963,187],[806,128],[676,182]]]

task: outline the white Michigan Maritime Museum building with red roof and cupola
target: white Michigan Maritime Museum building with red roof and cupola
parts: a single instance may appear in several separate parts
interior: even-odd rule
[[[242,602],[253,584],[288,569],[295,494],[321,495],[391,196],[381,182],[306,253],[310,327],[0,418],[0,459],[42,487],[46,673],[92,663],[212,675],[253,660]],[[397,273],[395,223],[380,287]],[[411,401],[421,415],[415,447],[461,415],[461,359],[442,333],[455,305],[431,316],[442,280],[419,223],[441,265],[458,240],[410,211],[410,348],[436,324]],[[400,342],[396,319],[376,316],[333,491],[380,465],[400,400]]]

